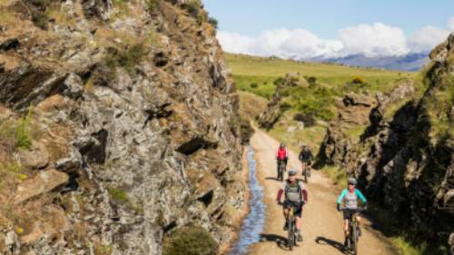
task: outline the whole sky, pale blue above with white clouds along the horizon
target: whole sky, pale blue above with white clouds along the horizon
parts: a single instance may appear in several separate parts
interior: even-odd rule
[[[427,53],[454,31],[454,0],[203,0],[227,52],[291,58]]]

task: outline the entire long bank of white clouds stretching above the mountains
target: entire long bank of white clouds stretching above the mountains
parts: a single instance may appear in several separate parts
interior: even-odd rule
[[[454,17],[449,19],[449,29],[454,31]],[[399,27],[374,23],[342,28],[338,37],[332,40],[321,39],[305,29],[287,28],[264,31],[255,37],[220,31],[218,39],[223,49],[231,53],[301,59],[350,54],[379,57],[423,53],[443,42],[448,34],[448,30],[427,25],[406,37]]]

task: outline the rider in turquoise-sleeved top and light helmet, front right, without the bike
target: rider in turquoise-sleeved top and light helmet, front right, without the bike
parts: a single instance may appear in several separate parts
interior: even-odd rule
[[[348,188],[341,192],[337,200],[337,209],[341,211],[341,203],[344,204],[343,210],[343,219],[344,219],[344,235],[345,241],[344,246],[347,246],[347,240],[349,236],[349,220],[352,216],[355,215],[355,212],[358,210],[358,199],[362,201],[364,210],[367,210],[367,201],[361,191],[357,190],[356,187],[357,181],[355,178],[349,178]],[[355,215],[356,217],[356,215]],[[360,230],[359,230],[360,233]]]

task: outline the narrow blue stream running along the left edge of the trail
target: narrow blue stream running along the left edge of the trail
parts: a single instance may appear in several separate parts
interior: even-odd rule
[[[249,208],[251,211],[242,220],[242,230],[240,230],[238,240],[233,244],[232,250],[228,255],[246,254],[250,245],[261,240],[265,224],[265,204],[263,203],[263,187],[257,177],[254,154],[252,147],[248,147],[249,190],[251,191]]]

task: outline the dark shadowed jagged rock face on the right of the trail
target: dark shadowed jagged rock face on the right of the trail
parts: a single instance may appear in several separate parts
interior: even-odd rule
[[[454,34],[430,57],[422,98],[406,103],[390,119],[383,116],[390,100],[379,100],[362,141],[341,162],[371,201],[419,233],[416,241],[447,244],[454,225]]]

